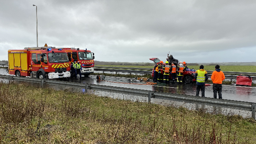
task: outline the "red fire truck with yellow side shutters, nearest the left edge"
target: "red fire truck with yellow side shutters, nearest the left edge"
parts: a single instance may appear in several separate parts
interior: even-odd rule
[[[9,74],[36,78],[68,78],[70,63],[67,53],[55,47],[25,47],[8,50]]]

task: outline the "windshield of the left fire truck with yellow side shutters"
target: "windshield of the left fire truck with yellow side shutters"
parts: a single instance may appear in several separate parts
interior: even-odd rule
[[[48,60],[50,63],[69,62],[67,53],[64,52],[48,53]]]

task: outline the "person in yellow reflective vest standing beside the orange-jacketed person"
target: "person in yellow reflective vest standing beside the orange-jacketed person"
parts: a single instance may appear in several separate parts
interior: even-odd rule
[[[203,65],[200,66],[199,70],[196,71],[196,96],[199,96],[201,89],[202,97],[205,97],[205,81],[208,80],[208,73],[203,69]]]

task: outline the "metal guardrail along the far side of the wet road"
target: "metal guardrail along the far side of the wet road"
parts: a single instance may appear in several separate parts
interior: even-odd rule
[[[134,70],[135,69],[135,70]],[[139,73],[139,74],[152,74],[153,68],[128,68],[128,67],[109,67],[109,66],[95,66],[95,71],[110,71],[110,72],[121,72],[121,73]],[[213,71],[207,71],[209,77]],[[250,75],[252,79],[256,80],[256,73],[247,72],[234,72],[234,71],[223,71],[226,79],[236,79],[239,75]]]

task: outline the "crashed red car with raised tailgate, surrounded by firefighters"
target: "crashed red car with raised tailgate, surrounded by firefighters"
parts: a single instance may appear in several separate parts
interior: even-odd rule
[[[159,62],[160,62],[160,59],[158,59],[158,58],[150,58],[150,60],[151,61],[153,61],[155,64],[159,64]],[[179,60],[177,60],[177,59],[174,59],[173,57],[172,57],[172,55],[168,55],[168,57],[167,57],[167,61],[169,62],[169,64],[171,65],[171,63],[173,62],[176,66],[179,64]],[[165,63],[163,63],[162,65],[161,65],[161,73],[163,74],[163,66],[165,66]],[[195,82],[195,78],[194,78],[194,76],[195,76],[195,70],[190,70],[190,69],[186,69],[184,72],[183,72],[183,80],[182,80],[182,82],[184,82],[184,83],[191,83],[191,82]],[[153,69],[153,71],[152,71],[152,77],[154,77],[154,69]],[[177,78],[177,76],[176,76],[176,78]],[[172,76],[171,75],[169,75],[169,80],[171,80],[172,79]]]

